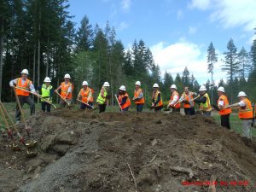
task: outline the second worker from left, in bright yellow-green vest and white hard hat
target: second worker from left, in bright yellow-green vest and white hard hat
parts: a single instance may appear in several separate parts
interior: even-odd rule
[[[42,86],[38,87],[38,90],[42,94],[42,99],[41,99],[41,106],[42,106],[42,111],[46,111],[50,113],[50,102],[52,102],[52,96],[54,93],[53,87],[50,85],[51,80],[49,77],[46,77],[44,79],[44,84]]]

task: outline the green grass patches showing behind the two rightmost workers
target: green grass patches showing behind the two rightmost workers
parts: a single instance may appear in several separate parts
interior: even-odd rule
[[[218,125],[220,125],[220,116],[218,115],[218,113],[213,113],[212,118],[216,120]],[[234,130],[240,134],[242,133],[241,119],[238,118],[238,113],[230,114],[230,126],[231,126],[231,130]],[[256,137],[255,127],[253,127],[253,137]]]

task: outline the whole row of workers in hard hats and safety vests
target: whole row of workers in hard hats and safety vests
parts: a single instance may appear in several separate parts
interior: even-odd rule
[[[30,107],[31,114],[35,113],[35,104],[30,97],[30,92],[35,96],[38,96],[38,92],[35,90],[32,81],[27,79],[28,71],[26,69],[22,70],[21,77],[17,79],[13,79],[9,82],[11,87],[15,88],[15,92],[19,97],[21,107],[27,103]],[[44,84],[38,87],[39,93],[41,93],[41,102],[42,102],[42,110],[45,112],[50,112],[50,103],[52,102],[53,93],[58,93],[61,90],[61,108],[65,108],[66,105],[69,105],[72,102],[73,98],[73,84],[71,83],[71,77],[69,74],[65,74],[64,81],[60,84],[60,86],[53,90],[53,87],[50,85],[51,80],[46,77],[44,79]],[[88,82],[84,81],[82,84],[82,89],[79,90],[79,95],[77,100],[81,102],[80,108],[93,108],[93,94],[94,90],[88,86]],[[133,94],[132,101],[135,102],[137,106],[137,113],[143,112],[143,105],[145,103],[145,99],[143,96],[143,90],[141,88],[141,82],[137,81],[135,83],[135,90]],[[106,106],[108,105],[109,90],[110,84],[105,82],[102,85],[102,89],[99,92],[99,95],[96,98],[96,103],[99,108],[99,113],[105,112]],[[238,94],[238,98],[240,102],[230,105],[227,96],[224,95],[224,87],[218,88],[218,105],[211,105],[210,97],[207,94],[207,88],[204,85],[201,85],[199,89],[199,94],[192,92],[189,90],[189,87],[185,87],[181,96],[179,96],[177,92],[177,86],[172,84],[171,86],[171,98],[167,105],[167,108],[172,108],[172,113],[180,113],[181,103],[183,103],[184,113],[186,115],[194,115],[195,114],[195,102],[200,105],[199,111],[205,115],[210,116],[212,110],[218,110],[218,113],[221,118],[221,125],[230,129],[230,113],[231,108],[239,109],[239,118],[242,120],[242,128],[243,128],[243,136],[251,138],[251,122],[254,118],[255,114],[253,113],[253,104],[248,100],[245,92],[241,91]],[[131,107],[131,99],[128,96],[125,85],[121,85],[119,87],[119,93],[115,95],[117,101],[119,102],[119,107],[121,111],[128,111]],[[152,102],[151,108],[154,108],[155,112],[160,112],[163,108],[163,101],[160,92],[159,84],[153,85],[153,93],[152,93]],[[18,106],[16,107],[15,118],[17,123],[20,122],[20,109]]]

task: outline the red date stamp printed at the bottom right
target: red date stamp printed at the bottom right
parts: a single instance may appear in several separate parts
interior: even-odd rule
[[[190,185],[194,185],[194,186],[211,186],[211,185],[219,185],[219,186],[248,186],[249,185],[249,181],[244,180],[244,181],[183,181],[181,183],[182,185],[185,186],[190,186]]]

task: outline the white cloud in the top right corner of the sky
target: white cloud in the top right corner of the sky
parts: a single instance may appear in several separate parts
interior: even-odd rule
[[[224,28],[243,26],[248,32],[256,26],[255,0],[191,0],[190,8],[212,10],[210,19]]]

